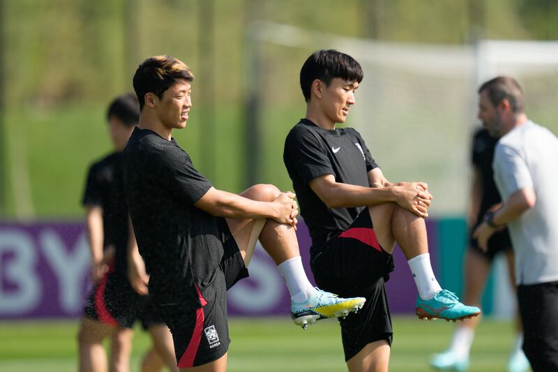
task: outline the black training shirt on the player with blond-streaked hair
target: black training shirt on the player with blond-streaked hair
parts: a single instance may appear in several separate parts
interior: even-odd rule
[[[223,257],[217,218],[194,207],[211,183],[174,141],[135,128],[124,149],[126,198],[137,246],[159,304],[195,302]],[[206,292],[204,295],[208,295]]]

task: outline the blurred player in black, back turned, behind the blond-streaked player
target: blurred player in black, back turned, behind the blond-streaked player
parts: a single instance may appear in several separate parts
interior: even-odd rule
[[[107,371],[103,346],[107,337],[111,338],[110,371],[129,371],[132,326],[137,318],[153,339],[142,371],[160,371],[165,364],[171,371],[176,369],[169,329],[152,313],[145,296],[148,277],[137,255],[124,196],[122,150],[139,116],[139,103],[133,94],[112,101],[107,121],[114,152],[91,165],[87,177],[83,204],[95,285],[80,325],[80,371]]]

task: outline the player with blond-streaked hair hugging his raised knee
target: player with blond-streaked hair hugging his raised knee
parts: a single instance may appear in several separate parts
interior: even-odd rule
[[[226,290],[248,275],[257,239],[287,283],[297,324],[346,315],[364,299],[312,287],[296,241],[293,193],[260,184],[236,195],[213,188],[197,172],[172,138],[174,128],[186,127],[192,81],[188,66],[168,56],[137,68],[141,116],[124,150],[126,198],[151,274],[149,295],[171,329],[179,367],[225,371]]]

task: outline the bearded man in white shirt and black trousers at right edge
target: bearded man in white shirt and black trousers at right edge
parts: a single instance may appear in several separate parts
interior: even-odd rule
[[[478,118],[500,138],[492,168],[503,204],[485,215],[474,237],[485,249],[508,225],[523,350],[533,371],[558,371],[558,138],[527,118],[522,89],[511,77],[485,82],[478,94]]]

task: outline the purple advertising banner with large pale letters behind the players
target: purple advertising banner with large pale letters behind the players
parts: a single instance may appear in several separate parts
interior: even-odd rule
[[[430,257],[437,262],[435,223],[428,221]],[[306,272],[310,271],[310,236],[303,222],[297,236]],[[392,313],[414,311],[416,288],[399,249],[395,271],[386,283]],[[82,223],[0,223],[0,320],[75,318],[91,287],[90,253]],[[436,267],[435,267],[436,269]],[[289,292],[276,265],[258,246],[250,277],[228,293],[230,315],[285,315]],[[363,278],[365,280],[365,278]]]

